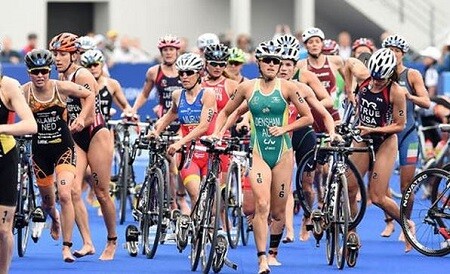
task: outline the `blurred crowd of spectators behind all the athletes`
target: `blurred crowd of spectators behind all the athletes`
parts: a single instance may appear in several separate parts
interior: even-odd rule
[[[291,31],[288,25],[277,25],[275,27],[274,37],[283,34],[292,34],[297,39],[301,40],[302,31]],[[380,34],[380,41],[383,41],[390,33],[388,31]],[[93,32],[87,33],[97,44],[105,55],[106,62],[109,67],[116,63],[151,63],[160,62],[160,56],[151,56],[140,44],[139,38],[132,38],[127,35],[120,35],[116,30],[109,30],[103,34],[96,34]],[[178,35],[180,37],[180,35]],[[250,35],[238,34],[233,38],[231,32],[224,32],[219,34],[221,43],[229,47],[237,47],[246,54],[247,62],[254,62],[254,43]],[[349,31],[340,32],[335,39],[338,45],[338,54],[344,59],[351,56],[352,41],[359,37],[352,37]],[[330,37],[327,37],[330,39]],[[180,54],[188,51],[197,52],[198,48],[191,46],[186,37],[180,37],[181,49]],[[373,39],[375,41],[375,39]],[[1,40],[0,63],[18,64],[23,62],[23,57],[38,45],[38,36],[35,33],[27,35],[27,43],[23,47],[16,47],[8,36],[4,36]],[[374,43],[375,46],[376,43]],[[300,50],[299,59],[307,57],[306,50]],[[435,95],[439,75],[442,72],[450,71],[450,37],[446,40],[445,45],[439,49],[434,46],[429,46],[419,52],[411,51],[405,56],[406,62],[415,63],[422,72],[426,86],[429,87],[430,95]]]

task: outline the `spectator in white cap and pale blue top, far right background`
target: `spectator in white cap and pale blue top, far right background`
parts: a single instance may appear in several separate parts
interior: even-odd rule
[[[430,97],[436,96],[439,74],[436,70],[436,64],[441,58],[441,52],[436,47],[427,47],[420,52],[422,63],[425,65],[424,82]]]

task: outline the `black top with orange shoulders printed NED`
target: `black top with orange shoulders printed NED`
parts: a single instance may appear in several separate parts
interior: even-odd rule
[[[53,96],[50,100],[36,98],[30,85],[28,105],[38,125],[38,133],[33,135],[33,146],[46,144],[73,144],[67,125],[66,103],[61,100],[56,84],[53,82]]]

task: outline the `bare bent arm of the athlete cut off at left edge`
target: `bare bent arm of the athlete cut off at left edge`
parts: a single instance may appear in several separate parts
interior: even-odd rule
[[[20,121],[14,124],[0,125],[0,134],[10,135],[24,135],[34,134],[37,132],[37,124],[34,120],[33,113],[28,106],[25,97],[22,94],[22,89],[17,80],[3,76],[1,80],[5,105],[15,111],[20,118]]]

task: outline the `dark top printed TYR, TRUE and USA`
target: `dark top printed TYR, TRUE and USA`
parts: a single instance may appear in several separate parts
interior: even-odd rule
[[[370,90],[370,79],[364,80],[358,88],[358,117],[361,125],[368,127],[382,127],[392,122],[392,105],[390,103],[389,83],[381,92]]]

